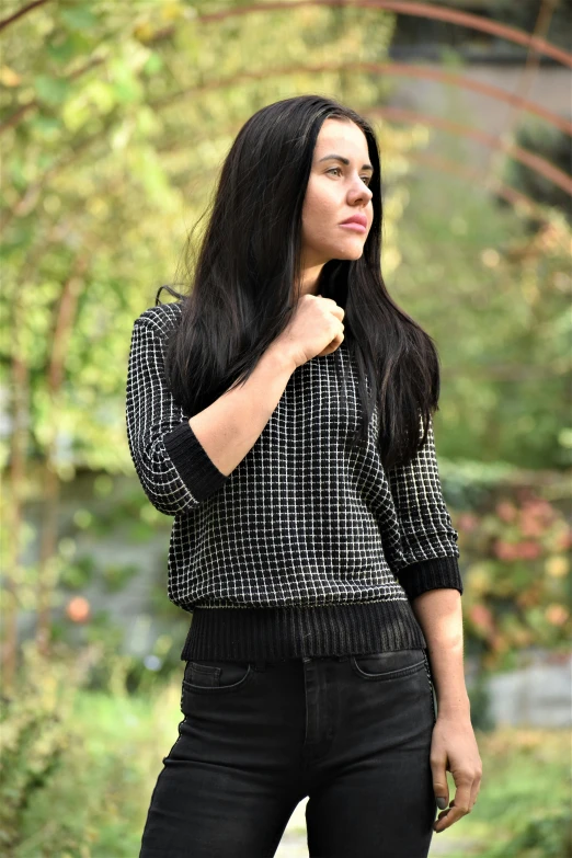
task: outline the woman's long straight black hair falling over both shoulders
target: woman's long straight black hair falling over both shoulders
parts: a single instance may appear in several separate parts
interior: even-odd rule
[[[344,342],[357,365],[364,414],[354,443],[366,442],[377,402],[379,451],[390,468],[408,461],[425,443],[430,416],[438,410],[439,358],[432,338],[391,299],[381,276],[381,171],[374,129],[333,99],[284,99],[242,126],[208,207],[194,272],[188,237],[186,291],[161,287],[182,301],[181,323],[165,348],[165,377],[191,417],[245,381],[287,325],[291,294],[299,294],[301,282],[306,186],[327,118],[355,123],[367,139],[374,219],[362,256],[330,260],[318,290],[345,311]]]

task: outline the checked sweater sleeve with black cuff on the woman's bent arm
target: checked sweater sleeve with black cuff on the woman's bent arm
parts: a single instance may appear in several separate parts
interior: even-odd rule
[[[126,427],[131,459],[152,505],[180,515],[224,485],[224,474],[198,442],[164,378],[164,338],[136,320],[129,352]]]

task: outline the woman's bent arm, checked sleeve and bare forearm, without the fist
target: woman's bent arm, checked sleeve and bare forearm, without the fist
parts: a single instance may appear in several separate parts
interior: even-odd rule
[[[165,385],[163,348],[159,329],[137,320],[127,370],[127,438],[147,497],[164,515],[178,515],[225,484],[260,437],[296,363],[275,341],[243,385],[190,420]]]

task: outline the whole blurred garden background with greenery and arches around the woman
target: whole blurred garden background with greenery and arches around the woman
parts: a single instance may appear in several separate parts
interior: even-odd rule
[[[138,853],[191,615],[129,457],[130,332],[240,127],[309,92],[375,125],[382,273],[442,358],[483,783],[431,855],[572,855],[571,34],[570,0],[3,0],[2,855]],[[307,854],[300,804],[277,856]]]

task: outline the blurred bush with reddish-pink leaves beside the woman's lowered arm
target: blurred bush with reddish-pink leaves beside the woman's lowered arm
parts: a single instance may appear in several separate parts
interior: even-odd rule
[[[514,666],[515,654],[533,645],[565,647],[572,530],[558,506],[535,491],[505,488],[493,508],[462,513],[456,526],[467,564],[468,648],[483,665]]]

